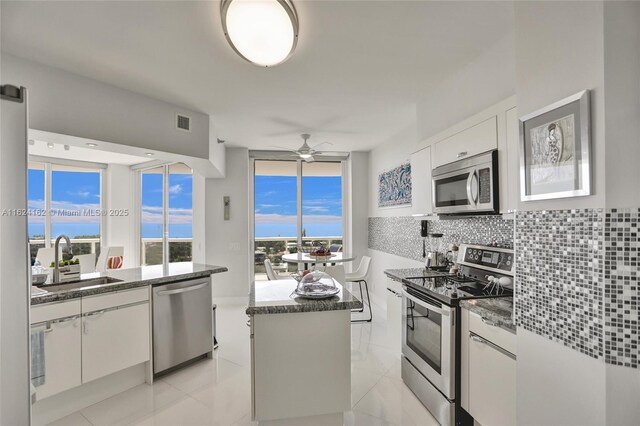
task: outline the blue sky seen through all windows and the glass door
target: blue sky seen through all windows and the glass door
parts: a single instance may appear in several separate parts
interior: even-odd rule
[[[342,236],[342,178],[302,178],[302,220],[309,237]],[[100,233],[99,172],[53,171],[51,207],[56,212],[79,212],[80,216],[52,216],[52,236]],[[169,175],[169,237],[192,236],[192,176]],[[296,177],[256,176],[255,236],[296,237]],[[28,206],[44,209],[44,170],[28,173]],[[129,212],[132,214],[133,212]],[[142,237],[162,237],[162,175],[142,175]],[[29,218],[29,235],[44,234],[44,217]]]

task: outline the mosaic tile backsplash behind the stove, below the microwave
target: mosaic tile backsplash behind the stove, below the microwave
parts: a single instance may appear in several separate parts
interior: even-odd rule
[[[448,246],[493,241],[513,245],[513,220],[500,216],[430,220],[429,232],[442,233],[442,242]],[[370,217],[369,248],[422,261],[420,221],[411,216]]]

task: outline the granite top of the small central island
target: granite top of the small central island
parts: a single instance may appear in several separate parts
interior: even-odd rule
[[[340,293],[330,299],[315,300],[292,297],[297,285],[294,279],[253,282],[247,315],[339,311],[362,307],[362,302],[340,284]]]

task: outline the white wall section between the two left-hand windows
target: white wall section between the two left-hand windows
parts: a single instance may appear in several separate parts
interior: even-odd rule
[[[101,245],[124,247],[124,268],[138,266],[139,252],[136,238],[138,228],[136,226],[137,215],[134,206],[137,192],[135,172],[129,166],[110,164],[103,172],[106,179],[105,200],[106,209],[123,209],[129,212],[128,216],[107,216],[107,232],[103,235]]]

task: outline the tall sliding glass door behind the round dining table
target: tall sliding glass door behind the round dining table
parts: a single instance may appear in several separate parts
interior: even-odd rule
[[[254,270],[266,280],[264,261],[286,275],[296,264],[285,254],[326,245],[342,249],[342,162],[254,161]]]

